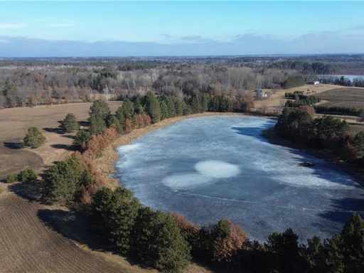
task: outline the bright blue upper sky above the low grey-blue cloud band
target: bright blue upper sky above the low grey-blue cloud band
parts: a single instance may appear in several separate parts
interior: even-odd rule
[[[307,36],[318,42],[323,36],[337,40],[328,51],[345,51],[346,43],[364,40],[363,18],[361,1],[0,1],[0,41],[21,37],[173,45],[250,38],[250,45],[255,40],[289,47],[287,43]]]

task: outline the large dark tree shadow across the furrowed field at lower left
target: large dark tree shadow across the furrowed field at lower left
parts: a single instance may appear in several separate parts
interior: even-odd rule
[[[112,247],[105,242],[102,234],[97,234],[92,229],[90,215],[75,210],[38,210],[38,218],[56,232],[70,240],[87,245],[92,250],[108,251],[116,253]]]

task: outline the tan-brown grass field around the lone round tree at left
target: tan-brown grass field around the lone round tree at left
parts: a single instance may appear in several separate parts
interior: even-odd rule
[[[114,111],[120,102],[109,102]],[[91,103],[73,103],[37,108],[7,108],[0,110],[0,179],[9,173],[31,167],[40,171],[43,166],[61,160],[68,154],[73,142],[72,134],[60,134],[60,120],[68,113],[85,121]],[[38,149],[19,149],[29,127],[43,129],[47,142]]]

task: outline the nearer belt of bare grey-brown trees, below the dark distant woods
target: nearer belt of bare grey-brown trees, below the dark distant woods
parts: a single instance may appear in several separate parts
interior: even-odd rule
[[[0,107],[88,102],[100,97],[124,100],[149,91],[175,97],[198,93],[244,96],[256,87],[284,87],[287,78],[299,74],[296,70],[261,70],[220,63],[110,62],[103,66],[71,62],[0,68]]]

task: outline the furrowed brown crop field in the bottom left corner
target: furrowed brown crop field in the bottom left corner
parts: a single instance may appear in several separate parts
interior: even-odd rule
[[[6,196],[1,196],[6,195]],[[0,195],[1,272],[130,272],[81,250],[47,227],[38,214],[45,206],[14,193]]]

